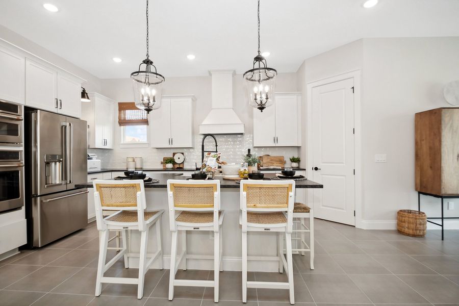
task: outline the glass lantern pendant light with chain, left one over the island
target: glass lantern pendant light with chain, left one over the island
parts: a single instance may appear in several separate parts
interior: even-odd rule
[[[148,55],[148,0],[146,0],[146,28],[146,59],[140,63],[138,71],[131,73],[131,80],[136,107],[149,113],[161,107],[162,87],[165,79],[158,73]],[[142,65],[145,65],[143,69]]]

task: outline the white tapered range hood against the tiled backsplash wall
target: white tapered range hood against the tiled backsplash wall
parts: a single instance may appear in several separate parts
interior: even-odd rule
[[[244,123],[233,110],[234,70],[210,70],[212,110],[199,124],[199,134],[244,134]]]

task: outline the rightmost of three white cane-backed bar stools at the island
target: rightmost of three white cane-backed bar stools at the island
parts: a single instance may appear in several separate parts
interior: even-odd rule
[[[241,181],[242,225],[242,302],[247,302],[247,288],[288,289],[290,303],[295,303],[293,290],[292,230],[295,181]],[[276,232],[279,272],[286,268],[288,283],[247,282],[247,233]],[[285,233],[287,254],[284,257],[282,235]],[[261,257],[254,258],[257,260]]]

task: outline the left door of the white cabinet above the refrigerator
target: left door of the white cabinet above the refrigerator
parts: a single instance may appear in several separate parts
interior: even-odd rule
[[[57,71],[47,65],[25,59],[25,105],[58,112]]]

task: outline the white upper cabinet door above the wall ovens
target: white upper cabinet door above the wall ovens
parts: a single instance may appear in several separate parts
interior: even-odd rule
[[[25,56],[0,46],[0,99],[24,104]]]

